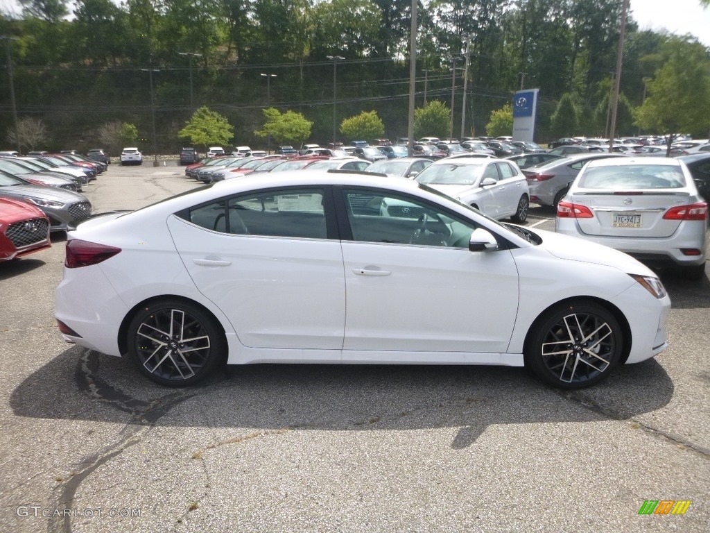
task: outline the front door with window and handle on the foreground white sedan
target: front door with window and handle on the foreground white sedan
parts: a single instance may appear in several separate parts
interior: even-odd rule
[[[335,197],[346,212],[344,361],[490,361],[506,352],[518,310],[510,251],[470,252],[477,225],[418,198],[363,188]]]

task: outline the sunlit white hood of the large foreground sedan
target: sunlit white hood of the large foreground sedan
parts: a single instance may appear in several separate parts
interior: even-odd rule
[[[559,259],[611,266],[627,274],[657,277],[645,264],[638,262],[628,254],[603,246],[603,244],[537,228],[530,231],[540,235],[547,252]]]

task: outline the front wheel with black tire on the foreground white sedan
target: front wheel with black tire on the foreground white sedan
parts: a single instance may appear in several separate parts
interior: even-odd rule
[[[525,365],[561,389],[581,389],[605,379],[621,360],[623,332],[597,303],[577,301],[550,308],[530,328]]]

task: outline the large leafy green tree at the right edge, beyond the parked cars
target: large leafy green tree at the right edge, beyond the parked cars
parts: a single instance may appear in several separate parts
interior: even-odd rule
[[[710,53],[694,38],[672,37],[647,82],[646,99],[634,111],[647,131],[706,136],[710,128]]]

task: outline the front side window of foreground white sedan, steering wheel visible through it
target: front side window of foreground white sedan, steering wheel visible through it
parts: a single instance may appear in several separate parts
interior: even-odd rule
[[[359,242],[467,248],[476,225],[418,198],[378,190],[344,190],[353,239]]]

